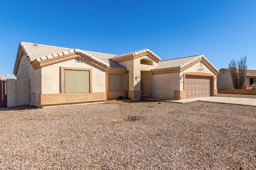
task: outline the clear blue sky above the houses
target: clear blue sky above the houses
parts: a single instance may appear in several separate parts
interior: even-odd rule
[[[256,70],[255,0],[2,1],[0,74],[18,43],[123,54],[148,48],[162,60],[203,54],[217,69],[247,55]]]

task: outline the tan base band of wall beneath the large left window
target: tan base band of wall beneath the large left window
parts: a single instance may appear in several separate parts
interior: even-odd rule
[[[58,105],[58,104],[75,104],[85,102],[96,102],[107,100],[106,92],[96,93],[76,93],[76,94],[38,94],[38,104]]]

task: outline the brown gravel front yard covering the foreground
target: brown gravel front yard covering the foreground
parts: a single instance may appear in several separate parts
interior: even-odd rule
[[[25,108],[0,111],[0,169],[256,169],[254,106],[112,100]]]

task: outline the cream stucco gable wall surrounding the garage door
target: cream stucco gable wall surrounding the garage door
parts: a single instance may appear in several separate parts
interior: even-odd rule
[[[202,72],[202,73],[208,73],[208,74],[214,75],[214,73],[212,73],[212,71],[206,66],[206,64],[204,64],[204,62],[202,62],[202,69],[200,70],[199,68],[200,68],[200,63],[198,62],[190,66],[186,70],[183,70],[182,72],[180,72],[180,77],[186,72]],[[217,80],[215,75],[214,75],[214,89],[217,89]],[[184,90],[184,78],[180,78],[180,90]]]

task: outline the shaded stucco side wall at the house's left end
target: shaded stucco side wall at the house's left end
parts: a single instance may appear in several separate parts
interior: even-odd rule
[[[26,56],[20,60],[20,65],[17,73],[17,80],[30,79],[30,96],[35,94],[34,106],[38,105],[38,94],[42,93],[41,90],[41,68],[34,70]]]

